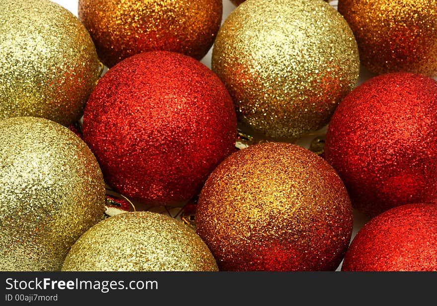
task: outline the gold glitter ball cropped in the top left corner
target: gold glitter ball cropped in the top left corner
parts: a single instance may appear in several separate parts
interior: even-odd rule
[[[48,0],[0,0],[0,20],[0,119],[76,122],[103,67],[88,31]]]

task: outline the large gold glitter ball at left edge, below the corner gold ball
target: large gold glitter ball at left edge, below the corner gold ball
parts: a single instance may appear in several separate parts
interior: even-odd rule
[[[86,144],[35,117],[0,121],[0,270],[59,270],[103,218],[105,184]]]

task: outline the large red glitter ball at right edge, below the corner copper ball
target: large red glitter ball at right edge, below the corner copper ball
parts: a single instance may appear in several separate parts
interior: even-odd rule
[[[325,158],[353,206],[375,216],[437,200],[437,82],[412,73],[374,77],[338,106]]]

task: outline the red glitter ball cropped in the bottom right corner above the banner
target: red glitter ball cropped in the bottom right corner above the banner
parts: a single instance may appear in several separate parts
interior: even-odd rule
[[[437,206],[407,204],[371,219],[349,246],[342,271],[437,271]]]

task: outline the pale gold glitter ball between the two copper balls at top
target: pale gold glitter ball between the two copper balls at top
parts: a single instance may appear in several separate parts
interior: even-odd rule
[[[241,128],[274,140],[327,123],[359,68],[347,22],[320,0],[247,0],[224,21],[212,53]]]

